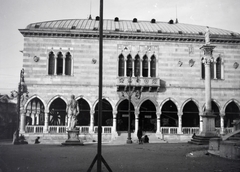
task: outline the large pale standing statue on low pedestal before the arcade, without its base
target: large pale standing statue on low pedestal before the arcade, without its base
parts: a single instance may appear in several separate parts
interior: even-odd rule
[[[73,130],[77,123],[77,115],[79,114],[79,106],[78,102],[75,100],[75,96],[71,96],[71,100],[69,101],[66,112],[68,115],[68,130]]]

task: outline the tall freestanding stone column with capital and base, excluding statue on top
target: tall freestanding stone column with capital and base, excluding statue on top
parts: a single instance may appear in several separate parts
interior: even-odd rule
[[[215,46],[210,44],[203,45],[200,49],[204,51],[205,64],[205,111],[202,116],[203,128],[201,136],[216,136],[215,132],[215,115],[212,113],[212,97],[211,97],[211,69],[212,51]]]

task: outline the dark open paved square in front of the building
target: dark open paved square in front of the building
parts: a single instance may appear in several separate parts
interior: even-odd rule
[[[187,143],[103,145],[113,172],[239,172],[240,161],[206,155],[207,146]],[[0,172],[86,172],[97,144],[12,145],[0,142]],[[96,170],[94,165],[92,172]],[[102,165],[102,171],[107,171]]]

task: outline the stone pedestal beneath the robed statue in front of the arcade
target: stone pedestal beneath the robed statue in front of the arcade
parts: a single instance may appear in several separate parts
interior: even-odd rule
[[[83,146],[83,142],[79,139],[79,130],[68,130],[68,139],[62,143],[64,146]]]

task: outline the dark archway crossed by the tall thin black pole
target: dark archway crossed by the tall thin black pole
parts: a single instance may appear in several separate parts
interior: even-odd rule
[[[102,126],[112,126],[112,124],[113,124],[112,106],[106,99],[103,99],[102,100]],[[98,126],[98,103],[95,107],[94,126]]]

